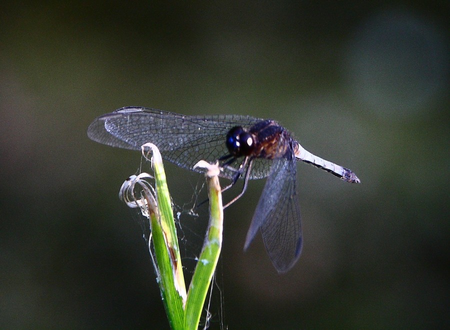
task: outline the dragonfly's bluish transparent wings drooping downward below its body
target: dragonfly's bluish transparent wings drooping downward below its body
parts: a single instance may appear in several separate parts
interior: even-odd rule
[[[278,272],[288,271],[301,252],[300,207],[293,155],[273,163],[247,232],[244,249],[261,229],[267,253]]]

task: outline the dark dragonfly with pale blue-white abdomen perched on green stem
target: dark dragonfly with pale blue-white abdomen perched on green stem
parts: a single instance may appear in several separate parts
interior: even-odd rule
[[[142,107],[125,107],[97,117],[87,129],[96,142],[141,150],[156,145],[162,157],[192,171],[199,160],[219,161],[224,189],[243,179],[267,178],[248,229],[244,250],[258,231],[272,264],[280,273],[292,268],[302,248],[296,161],[309,163],[338,178],[359,183],[349,169],[306,151],[276,121],[244,115],[180,115]],[[227,205],[229,205],[228,203]],[[227,206],[225,205],[225,206]]]

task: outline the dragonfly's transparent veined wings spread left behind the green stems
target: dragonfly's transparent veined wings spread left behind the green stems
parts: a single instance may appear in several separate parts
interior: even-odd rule
[[[192,170],[199,160],[214,162],[228,154],[226,133],[234,126],[250,128],[262,119],[239,115],[184,116],[149,108],[127,107],[96,118],[87,129],[93,141],[113,147],[140,150],[144,143],[155,144],[162,157]],[[230,164],[238,168],[241,159]],[[268,175],[271,161],[256,159],[250,179]],[[232,178],[225,169],[221,176]]]

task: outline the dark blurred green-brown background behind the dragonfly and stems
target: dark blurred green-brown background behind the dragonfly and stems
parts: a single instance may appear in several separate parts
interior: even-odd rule
[[[284,275],[260,237],[242,251],[251,182],[225,212],[211,328],[219,310],[230,329],[448,327],[448,18],[447,1],[3,3],[0,327],[168,327],[117,198],[140,155],[86,137],[127,105],[275,118],[362,181],[298,164]],[[199,176],[166,169],[189,201]]]

